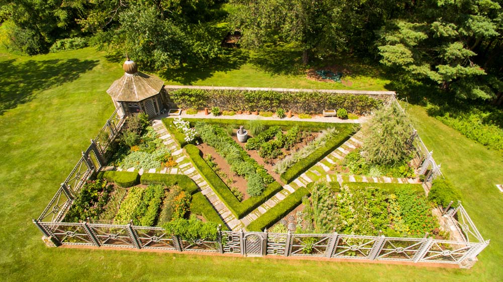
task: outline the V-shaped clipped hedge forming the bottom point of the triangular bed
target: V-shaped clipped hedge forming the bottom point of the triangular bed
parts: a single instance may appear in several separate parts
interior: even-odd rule
[[[243,202],[239,202],[227,185],[208,166],[208,164],[206,164],[204,159],[201,157],[201,151],[199,151],[196,146],[187,145],[185,150],[187,151],[187,154],[189,154],[196,168],[211,186],[213,192],[217,194],[218,198],[224,202],[232,214],[234,214],[237,218],[243,218],[283,189],[283,187],[275,181],[266,187],[266,189],[262,192],[262,195],[258,197],[250,197]]]

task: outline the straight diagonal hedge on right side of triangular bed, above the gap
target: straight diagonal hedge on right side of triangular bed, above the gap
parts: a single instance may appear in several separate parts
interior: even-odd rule
[[[295,165],[287,169],[281,175],[281,180],[286,184],[292,182],[295,178],[299,177],[310,167],[321,161],[324,157],[326,157],[326,155],[330,154],[333,150],[336,150],[338,147],[343,145],[346,140],[351,137],[351,134],[354,133],[355,130],[352,127],[348,126],[344,129],[339,129],[339,131],[340,133],[337,136],[326,141],[325,146],[318,148],[316,151],[311,153],[311,155],[307,156],[307,158],[303,159],[300,162],[297,162]]]

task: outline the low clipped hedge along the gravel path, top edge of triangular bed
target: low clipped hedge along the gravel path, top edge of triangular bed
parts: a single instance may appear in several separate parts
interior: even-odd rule
[[[164,120],[164,119],[163,119]],[[184,118],[184,120],[189,121],[194,124],[197,121],[202,121],[208,124],[218,124],[218,125],[233,125],[235,128],[239,128],[239,125],[243,125],[244,129],[247,126],[247,120],[244,119],[220,119],[220,118]],[[288,130],[293,126],[297,125],[302,131],[321,131],[323,129],[333,127],[341,131],[346,128],[352,128],[354,123],[333,123],[333,122],[315,122],[315,121],[292,121],[292,120],[261,120],[261,122],[266,127],[280,126],[283,130]],[[175,126],[175,125],[173,125]],[[176,130],[176,128],[175,128]],[[184,136],[185,137],[185,136]],[[182,138],[183,139],[183,138]]]

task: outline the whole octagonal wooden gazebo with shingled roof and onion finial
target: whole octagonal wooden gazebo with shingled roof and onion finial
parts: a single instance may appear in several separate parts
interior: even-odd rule
[[[164,109],[160,91],[164,81],[138,71],[138,66],[129,58],[122,65],[125,73],[108,88],[117,108],[122,105],[124,114],[140,111],[150,118],[159,115]]]

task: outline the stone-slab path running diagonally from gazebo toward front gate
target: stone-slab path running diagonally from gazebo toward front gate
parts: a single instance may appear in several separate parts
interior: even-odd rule
[[[196,170],[192,162],[185,156],[183,150],[175,142],[173,137],[169,132],[167,132],[164,127],[161,118],[158,117],[152,120],[155,132],[157,132],[159,138],[163,139],[163,143],[169,146],[169,149],[173,152],[173,158],[176,159],[178,163],[178,168],[171,169],[170,173],[185,174],[190,177],[201,189],[201,193],[206,196],[208,201],[213,205],[213,208],[218,212],[220,217],[223,219],[225,224],[231,229],[236,230],[243,227],[242,223],[230,212],[230,210],[225,206],[224,203],[218,198],[218,196],[213,192],[210,185],[204,180],[202,175]],[[160,173],[167,173],[166,168],[162,169]]]

